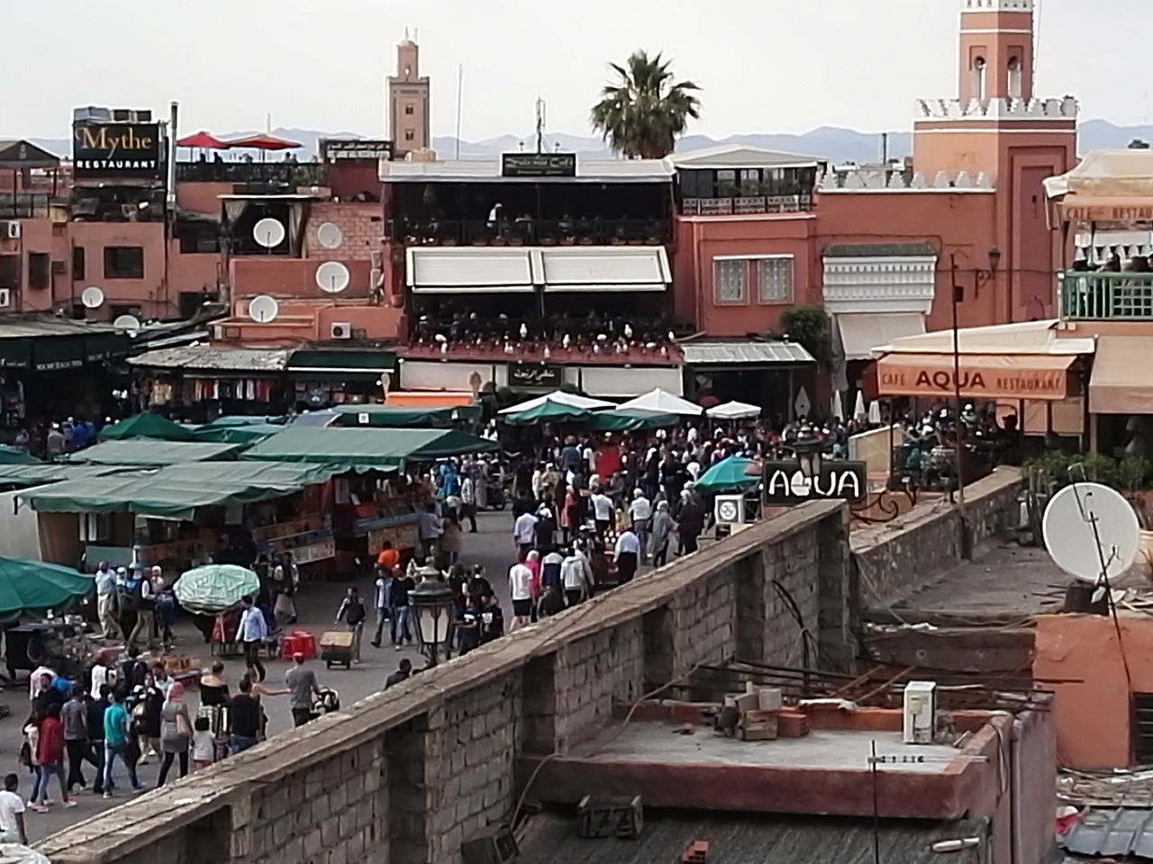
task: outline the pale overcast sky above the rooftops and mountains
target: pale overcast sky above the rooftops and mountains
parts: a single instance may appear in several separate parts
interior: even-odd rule
[[[1039,0],[1041,96],[1084,118],[1150,119],[1153,3]],[[691,131],[907,129],[915,97],[956,93],[959,0],[59,0],[3,2],[0,137],[68,136],[78,105],[181,105],[181,130],[384,129],[405,28],[432,78],[434,135],[587,135],[605,63],[664,51],[703,88]],[[1091,17],[1086,17],[1091,12]]]

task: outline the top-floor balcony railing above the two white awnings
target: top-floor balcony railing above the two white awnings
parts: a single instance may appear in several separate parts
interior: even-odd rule
[[[663,245],[668,219],[523,219],[497,222],[391,219],[387,237],[406,245]]]

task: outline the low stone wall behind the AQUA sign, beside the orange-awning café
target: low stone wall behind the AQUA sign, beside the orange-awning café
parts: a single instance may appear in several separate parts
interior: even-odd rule
[[[853,531],[853,594],[858,608],[888,606],[932,583],[963,558],[1017,525],[1020,469],[998,468],[965,487],[963,539],[957,509],[947,500],[920,503],[892,522]]]

